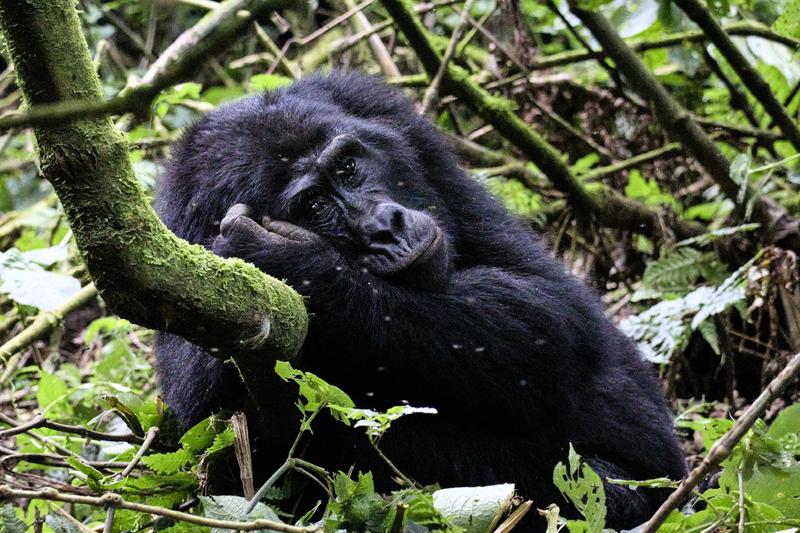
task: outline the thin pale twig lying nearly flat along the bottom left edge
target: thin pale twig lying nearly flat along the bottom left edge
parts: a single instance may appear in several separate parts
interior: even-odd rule
[[[319,527],[290,526],[289,524],[276,522],[274,520],[267,520],[265,518],[252,520],[250,522],[234,522],[232,520],[216,520],[214,518],[205,518],[203,516],[183,513],[181,511],[173,511],[172,509],[165,509],[155,505],[128,502],[125,501],[125,499],[119,494],[114,494],[111,492],[96,497],[82,496],[78,494],[63,494],[52,488],[44,488],[40,490],[22,490],[11,488],[8,485],[0,485],[0,498],[49,500],[67,503],[80,503],[95,507],[108,507],[113,505],[119,509],[125,509],[137,513],[154,514],[157,516],[170,518],[172,520],[196,524],[198,526],[232,529],[234,531],[257,531],[259,529],[271,529],[285,533],[316,533],[318,531],[322,531],[322,529]]]

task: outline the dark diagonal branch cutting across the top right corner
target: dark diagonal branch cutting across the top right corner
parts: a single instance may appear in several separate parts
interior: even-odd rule
[[[789,139],[795,149],[800,151],[800,127],[789,117],[767,82],[744,57],[744,54],[736,48],[719,22],[698,0],[675,0],[675,3],[695,24],[700,26],[700,29],[725,57],[750,93],[759,101],[764,111],[772,117],[778,129]]]

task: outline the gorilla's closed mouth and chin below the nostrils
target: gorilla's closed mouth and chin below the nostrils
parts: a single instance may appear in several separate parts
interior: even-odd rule
[[[390,278],[429,262],[444,245],[442,230],[435,225],[423,239],[413,243],[409,243],[409,240],[372,246],[368,253],[360,257],[360,263],[376,276]]]

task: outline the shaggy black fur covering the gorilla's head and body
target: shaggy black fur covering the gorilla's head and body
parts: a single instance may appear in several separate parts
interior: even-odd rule
[[[330,194],[366,191],[401,206],[383,213],[401,226],[422,227],[426,235],[439,228],[438,263],[414,275],[381,275],[364,267],[358,236],[348,239],[330,221],[307,222],[331,209],[344,217],[340,209],[352,205],[324,197],[297,214],[289,197],[303,187],[298,182],[322,172],[320,154],[342,135],[359,149],[335,173],[360,177]],[[342,194],[337,202],[351,193]],[[349,201],[370,202],[359,198]],[[251,206],[255,220],[288,220],[321,237],[285,239],[278,226],[243,219],[220,235],[220,220],[236,203]],[[537,506],[557,502],[569,513],[551,481],[569,443],[604,479],[684,475],[670,414],[631,341],[539,238],[459,168],[431,123],[380,81],[318,75],[209,113],[175,146],[157,208],[178,236],[250,261],[307,297],[312,318],[296,366],[342,387],[359,406],[408,401],[438,409],[402,419],[381,442],[416,480],[514,482]],[[370,205],[361,210],[375,223],[383,216]],[[427,222],[415,222],[417,215]],[[358,228],[372,232],[367,244],[381,235],[397,242],[386,228],[365,229],[363,220]],[[231,365],[168,334],[159,336],[157,355],[163,395],[185,425],[223,407],[253,412]],[[275,402],[262,406],[260,421],[251,418],[250,430],[261,437],[255,447],[262,473],[285,458],[298,418],[292,387],[265,381]],[[388,479],[360,430],[324,418],[304,457],[328,468],[355,464]],[[606,494],[608,525],[617,528],[646,519],[663,497],[608,484]]]

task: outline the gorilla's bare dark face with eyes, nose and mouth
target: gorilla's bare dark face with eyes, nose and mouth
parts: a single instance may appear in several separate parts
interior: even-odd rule
[[[415,195],[405,184],[423,180],[411,176],[416,165],[398,160],[398,150],[389,146],[339,133],[284,161],[289,176],[279,217],[317,233],[377,276],[446,270],[442,230],[408,204],[427,195]]]

